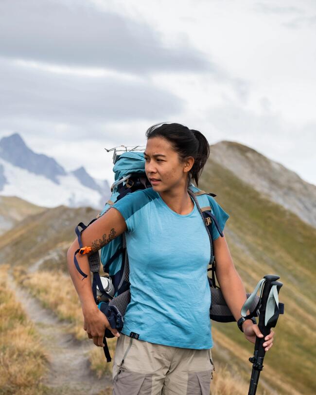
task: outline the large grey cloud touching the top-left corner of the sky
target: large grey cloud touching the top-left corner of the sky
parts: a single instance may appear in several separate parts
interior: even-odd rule
[[[88,1],[2,0],[0,54],[48,64],[149,72],[216,72],[190,43],[167,47],[150,25]]]

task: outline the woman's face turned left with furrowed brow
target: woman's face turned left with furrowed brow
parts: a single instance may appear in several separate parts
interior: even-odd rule
[[[189,157],[192,158],[189,162],[180,162],[178,153],[166,139],[161,137],[148,139],[144,157],[146,176],[155,191],[164,192],[186,185],[187,173],[194,160]],[[192,162],[191,166],[190,162]],[[152,179],[159,181],[155,182]]]

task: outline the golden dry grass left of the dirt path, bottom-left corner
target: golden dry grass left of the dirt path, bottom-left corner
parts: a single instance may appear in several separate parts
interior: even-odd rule
[[[0,394],[44,394],[40,379],[47,355],[34,325],[7,287],[8,266],[0,266]]]

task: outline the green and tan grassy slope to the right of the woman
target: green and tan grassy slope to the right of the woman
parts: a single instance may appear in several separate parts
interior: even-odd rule
[[[252,291],[265,274],[280,275],[284,284],[280,300],[285,303],[285,314],[280,316],[275,329],[275,345],[266,355],[261,382],[266,383],[266,389],[268,383],[275,382],[282,394],[316,393],[311,362],[315,359],[315,348],[311,345],[315,344],[312,300],[316,229],[263,198],[211,160],[199,187],[215,193],[218,203],[230,215],[225,234],[246,290]],[[253,346],[243,339],[236,323],[213,323],[213,328],[215,360],[231,360],[232,366],[237,364],[250,377],[251,364],[247,357],[252,354]],[[290,387],[284,388],[282,381]]]

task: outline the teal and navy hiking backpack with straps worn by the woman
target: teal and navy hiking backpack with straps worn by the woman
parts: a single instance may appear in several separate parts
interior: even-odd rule
[[[137,151],[126,151],[118,154],[118,150],[115,149],[113,156],[113,171],[115,174],[114,183],[111,186],[112,195],[110,199],[105,203],[105,207],[102,212],[94,218],[88,226],[94,222],[101,215],[104,215],[116,201],[124,198],[128,193],[133,193],[139,189],[151,188],[151,183],[147,179],[145,173],[145,159],[143,152]],[[212,193],[206,193],[205,191],[195,187],[193,183],[189,185],[188,193],[195,201],[197,209],[202,216],[203,223],[205,224],[207,233],[210,238],[211,254],[208,271],[211,271],[211,277],[208,276],[209,285],[211,287],[211,306],[210,306],[210,318],[218,322],[233,322],[235,318],[231,314],[225,299],[220,291],[220,288],[216,286],[215,281],[215,260],[213,254],[213,241],[211,224],[214,222],[221,237],[224,236],[222,233],[217,219],[214,215],[214,211],[211,206],[211,199],[209,196],[216,197]],[[81,228],[81,230],[79,229]],[[81,233],[87,228],[82,222],[76,227],[76,234],[78,236],[79,249],[74,254],[74,263],[77,270],[83,277],[87,275],[82,272],[78,262],[76,260],[76,253],[90,252],[90,247],[83,247],[81,243]],[[90,249],[90,250],[89,250]],[[126,250],[126,239],[125,233],[122,233],[110,243],[106,244],[101,249],[101,262],[99,252],[96,251],[88,256],[89,267],[93,273],[92,292],[94,300],[98,305],[99,309],[103,311],[112,328],[116,328],[118,331],[123,328],[123,317],[125,309],[130,301],[129,291],[129,263],[128,254]],[[108,277],[111,280],[114,288],[114,296],[111,296],[105,291],[100,278],[100,265],[103,265],[105,273],[108,273]],[[99,292],[98,292],[99,291]],[[100,298],[98,293],[102,295]],[[113,294],[113,292],[112,292]],[[247,294],[249,296],[250,294]],[[256,299],[252,307],[256,305],[258,300]],[[114,335],[108,330],[105,330],[105,338],[111,338]],[[106,360],[109,362],[111,357],[104,338],[104,352]]]

